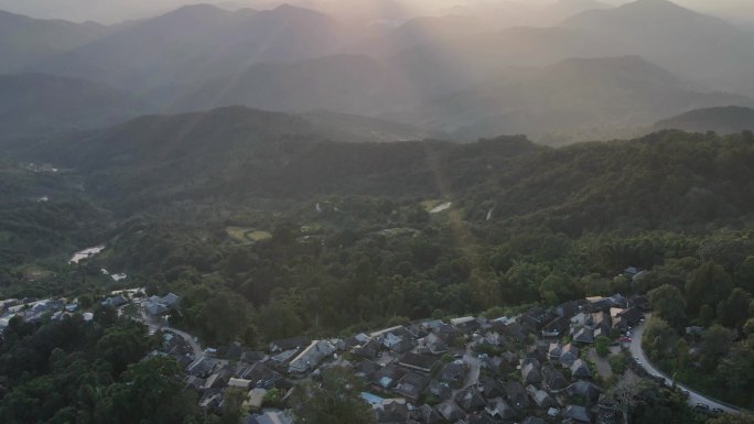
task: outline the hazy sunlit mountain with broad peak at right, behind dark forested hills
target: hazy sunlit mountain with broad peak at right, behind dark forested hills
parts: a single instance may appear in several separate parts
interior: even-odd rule
[[[638,56],[572,58],[439,96],[411,120],[439,122],[446,126],[443,130],[473,140],[590,126],[648,126],[657,116],[730,104],[754,106],[754,100],[698,91]]]

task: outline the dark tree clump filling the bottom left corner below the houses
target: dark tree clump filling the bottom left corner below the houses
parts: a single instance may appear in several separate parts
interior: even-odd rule
[[[141,360],[159,343],[101,309],[42,325],[13,319],[0,345],[0,416],[8,423],[203,422],[168,357]]]

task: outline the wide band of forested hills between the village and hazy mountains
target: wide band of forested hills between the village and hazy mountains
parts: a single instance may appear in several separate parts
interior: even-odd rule
[[[4,195],[19,200],[2,206],[4,237],[55,233],[28,256],[3,257],[8,295],[146,284],[180,293],[172,324],[206,344],[255,346],[672,287],[666,304],[679,311],[658,314],[671,345],[653,347],[657,358],[686,343],[691,362],[665,367],[705,387],[735,369],[740,378],[715,394],[754,404],[754,376],[742,371],[754,311],[739,307],[754,293],[750,133],[666,131],[560,149],[524,137],[346,143],[295,118],[230,108],[11,149],[72,171],[6,165],[17,176],[3,178]],[[65,204],[21,200],[47,178],[67,181]],[[65,265],[74,246],[99,242],[107,249],[86,265]],[[54,276],[32,283],[21,272],[30,264]],[[631,279],[626,267],[648,272]],[[100,268],[129,280],[105,281]],[[680,337],[688,326],[705,333]],[[723,331],[724,349],[698,354],[707,333]]]

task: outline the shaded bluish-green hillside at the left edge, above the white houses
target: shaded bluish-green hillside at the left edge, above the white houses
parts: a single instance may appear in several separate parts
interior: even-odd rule
[[[42,296],[76,287],[69,253],[101,240],[111,224],[82,185],[69,170],[0,160],[0,294]]]

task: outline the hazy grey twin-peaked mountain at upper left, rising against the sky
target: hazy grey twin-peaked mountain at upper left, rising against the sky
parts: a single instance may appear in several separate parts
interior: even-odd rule
[[[188,6],[62,54],[39,68],[141,93],[234,75],[255,64],[332,54],[349,42],[351,30],[325,14],[288,4],[235,12]]]

